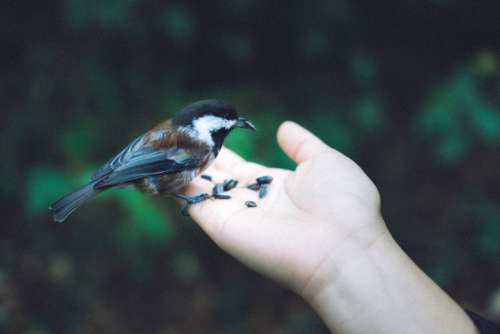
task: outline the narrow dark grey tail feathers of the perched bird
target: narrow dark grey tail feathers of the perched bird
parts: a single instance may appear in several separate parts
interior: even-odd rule
[[[53,212],[54,221],[64,222],[73,211],[95,197],[99,191],[94,189],[94,185],[95,182],[91,182],[52,203],[49,210]]]

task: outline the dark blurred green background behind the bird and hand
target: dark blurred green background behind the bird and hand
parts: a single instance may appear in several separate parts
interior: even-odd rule
[[[220,251],[169,199],[48,204],[184,105],[255,120],[245,158],[293,168],[295,120],[379,187],[408,254],[500,320],[500,3],[0,3],[0,332],[322,333],[298,297]]]

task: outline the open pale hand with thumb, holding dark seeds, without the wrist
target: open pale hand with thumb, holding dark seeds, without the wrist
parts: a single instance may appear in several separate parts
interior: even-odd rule
[[[340,266],[343,248],[351,247],[351,241],[369,247],[387,231],[378,191],[353,161],[292,122],[280,127],[278,142],[298,164],[295,171],[247,162],[227,149],[206,171],[215,182],[235,178],[240,185],[270,175],[273,182],[265,198],[238,187],[228,192],[229,200],[193,205],[190,215],[246,265],[310,294],[331,279],[322,273]],[[187,193],[211,193],[212,187],[198,178]],[[248,200],[257,207],[246,207]]]

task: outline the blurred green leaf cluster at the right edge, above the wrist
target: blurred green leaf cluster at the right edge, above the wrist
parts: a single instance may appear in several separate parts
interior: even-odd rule
[[[471,69],[456,70],[424,102],[418,131],[435,140],[438,160],[456,164],[477,144],[500,144],[500,112],[481,92],[483,80]]]

